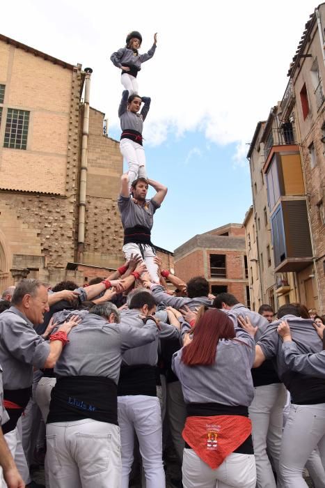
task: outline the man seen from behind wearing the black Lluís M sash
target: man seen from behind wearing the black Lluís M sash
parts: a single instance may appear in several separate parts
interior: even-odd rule
[[[153,342],[158,333],[150,315],[140,320],[141,328],[120,323],[116,305],[106,302],[90,308],[71,331],[54,367],[57,381],[47,416],[51,488],[120,487],[122,353]]]

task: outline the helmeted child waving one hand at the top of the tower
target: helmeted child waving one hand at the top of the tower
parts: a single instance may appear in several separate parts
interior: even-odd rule
[[[157,46],[157,33],[154,34],[154,43],[149,51],[145,54],[138,54],[138,49],[141,47],[142,36],[140,32],[132,31],[127,34],[126,46],[113,52],[111,55],[112,63],[122,70],[121,83],[129,95],[138,93],[138,82],[136,76],[141,70],[141,63],[148,61],[154,55]]]

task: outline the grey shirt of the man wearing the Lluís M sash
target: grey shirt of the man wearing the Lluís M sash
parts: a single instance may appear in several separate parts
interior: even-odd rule
[[[122,353],[155,341],[156,323],[148,320],[142,328],[129,323],[109,323],[88,314],[69,333],[69,344],[56,362],[57,376],[104,376],[116,384],[120,376]]]

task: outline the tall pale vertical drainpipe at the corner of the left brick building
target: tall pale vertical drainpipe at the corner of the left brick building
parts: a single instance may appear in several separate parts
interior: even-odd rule
[[[90,98],[90,75],[93,73],[91,68],[85,68],[85,99],[84,99],[84,120],[82,125],[81,141],[81,167],[80,167],[80,186],[79,186],[79,220],[78,220],[78,248],[77,262],[83,262],[85,245],[85,224],[86,224],[86,188],[87,188],[87,146],[89,135],[89,98]]]

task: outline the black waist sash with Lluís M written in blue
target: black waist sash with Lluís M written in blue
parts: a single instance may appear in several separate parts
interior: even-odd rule
[[[92,418],[118,425],[117,386],[102,376],[65,376],[51,390],[47,424]]]

